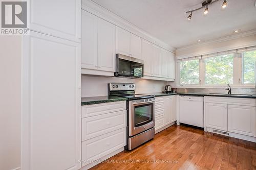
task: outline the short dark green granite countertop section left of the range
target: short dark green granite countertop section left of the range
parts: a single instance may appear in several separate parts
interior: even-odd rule
[[[118,102],[118,101],[126,101],[126,98],[122,98],[119,96],[94,96],[94,97],[86,97],[81,98],[81,105],[93,105],[99,103],[107,103],[107,102]]]

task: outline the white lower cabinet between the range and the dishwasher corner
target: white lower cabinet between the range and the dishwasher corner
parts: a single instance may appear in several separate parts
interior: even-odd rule
[[[156,132],[176,121],[176,95],[157,97],[155,108]]]

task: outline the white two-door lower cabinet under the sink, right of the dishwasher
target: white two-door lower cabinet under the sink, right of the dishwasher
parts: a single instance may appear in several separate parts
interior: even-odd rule
[[[251,138],[256,137],[255,99],[205,97],[205,127],[217,130],[213,132],[256,141]]]

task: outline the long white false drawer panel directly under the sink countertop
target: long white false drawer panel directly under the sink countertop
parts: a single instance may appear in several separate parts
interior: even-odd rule
[[[206,103],[221,103],[230,105],[243,105],[243,106],[255,106],[255,99],[247,98],[226,98],[226,97],[211,97],[205,96]]]

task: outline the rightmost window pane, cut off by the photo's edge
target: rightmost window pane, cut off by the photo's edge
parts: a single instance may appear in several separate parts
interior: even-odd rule
[[[254,84],[256,51],[243,52],[243,84]]]

